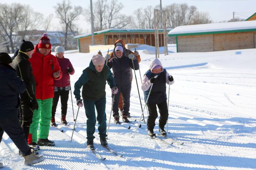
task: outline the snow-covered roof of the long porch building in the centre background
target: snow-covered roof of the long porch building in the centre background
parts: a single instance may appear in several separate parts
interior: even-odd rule
[[[167,28],[167,32],[172,30],[171,28]],[[155,32],[155,29],[119,29],[119,28],[110,28],[110,29],[104,29],[101,31],[94,32],[94,35],[98,34],[104,34],[104,33],[144,33],[144,32]],[[159,32],[163,32],[163,29],[159,29]],[[84,38],[87,36],[91,36],[91,33],[81,34],[74,36],[75,39]]]

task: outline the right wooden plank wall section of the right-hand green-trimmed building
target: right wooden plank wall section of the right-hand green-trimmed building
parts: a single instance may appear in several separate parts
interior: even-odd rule
[[[214,51],[252,49],[254,32],[224,33],[213,35]]]

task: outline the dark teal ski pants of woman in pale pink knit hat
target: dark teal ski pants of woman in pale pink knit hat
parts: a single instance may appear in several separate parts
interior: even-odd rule
[[[100,100],[97,101],[92,101],[92,100],[83,100],[84,102],[84,108],[85,108],[85,114],[87,117],[87,128],[86,128],[86,133],[87,133],[87,140],[92,141],[94,140],[94,132],[95,132],[95,125],[96,125],[96,120],[98,121],[98,131],[100,138],[106,138],[106,132],[107,132],[107,118],[106,118],[106,96],[101,98]],[[95,107],[97,111],[97,117],[95,115]]]

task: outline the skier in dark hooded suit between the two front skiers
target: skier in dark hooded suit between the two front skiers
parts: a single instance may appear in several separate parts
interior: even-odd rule
[[[123,95],[123,121],[128,123],[127,119],[130,110],[130,91],[132,89],[132,84],[130,80],[130,68],[133,69],[133,63],[135,70],[139,69],[139,63],[137,58],[133,53],[130,53],[128,57],[125,56],[124,47],[122,45],[116,45],[114,47],[114,57],[107,62],[107,66],[113,70],[113,77],[116,83],[118,93],[116,95],[112,94],[113,101],[113,117],[114,122],[119,124],[119,113],[118,113],[118,103],[119,96],[122,92]]]

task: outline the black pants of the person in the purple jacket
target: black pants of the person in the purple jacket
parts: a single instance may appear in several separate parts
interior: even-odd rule
[[[56,112],[57,104],[59,102],[59,97],[60,97],[60,103],[61,103],[61,109],[62,109],[62,116],[66,116],[66,112],[68,109],[69,91],[58,90],[58,91],[54,91],[52,117],[55,117],[55,112]]]

